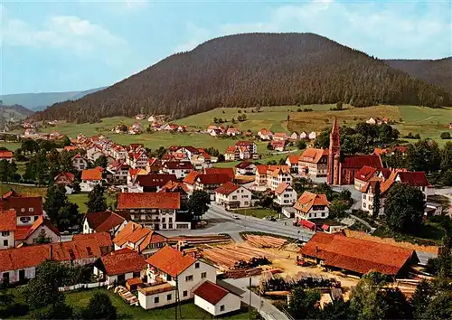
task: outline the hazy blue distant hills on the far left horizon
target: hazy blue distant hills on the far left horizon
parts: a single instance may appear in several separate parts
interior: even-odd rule
[[[89,89],[86,91],[68,92],[42,92],[42,93],[18,93],[0,96],[5,105],[21,105],[33,111],[41,111],[57,102],[80,99],[89,93],[105,89],[107,87]]]

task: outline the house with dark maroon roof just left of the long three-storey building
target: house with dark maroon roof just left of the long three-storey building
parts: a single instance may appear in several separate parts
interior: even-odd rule
[[[83,218],[82,233],[108,232],[111,237],[127,225],[126,219],[115,212],[87,212]]]

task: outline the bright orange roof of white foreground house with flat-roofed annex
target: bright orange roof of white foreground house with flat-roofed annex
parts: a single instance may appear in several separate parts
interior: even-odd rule
[[[146,259],[146,262],[166,274],[176,277],[186,268],[192,266],[196,259],[188,255],[184,256],[181,251],[166,246]]]

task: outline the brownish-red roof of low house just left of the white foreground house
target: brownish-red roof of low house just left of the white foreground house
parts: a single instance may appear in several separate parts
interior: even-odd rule
[[[136,251],[118,250],[100,257],[105,273],[108,276],[123,275],[129,272],[140,272],[146,267],[146,260]]]

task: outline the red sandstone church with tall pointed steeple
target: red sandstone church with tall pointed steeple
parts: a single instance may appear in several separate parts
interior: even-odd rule
[[[341,134],[336,118],[330,133],[328,165],[326,170],[327,184],[354,184],[354,175],[369,165],[381,169],[383,164],[380,155],[345,155],[341,158]]]

